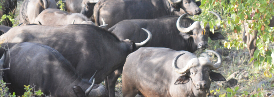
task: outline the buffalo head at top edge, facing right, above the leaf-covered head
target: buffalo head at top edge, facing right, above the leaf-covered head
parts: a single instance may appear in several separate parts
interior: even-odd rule
[[[200,2],[195,2],[195,0],[168,0],[172,4],[172,10],[180,11],[180,8],[190,15],[199,15],[202,13],[200,9]]]

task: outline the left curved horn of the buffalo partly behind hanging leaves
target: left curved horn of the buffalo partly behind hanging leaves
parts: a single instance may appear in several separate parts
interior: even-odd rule
[[[188,13],[184,13],[183,15],[181,15],[177,22],[176,22],[176,26],[177,26],[177,29],[182,32],[182,33],[188,33],[190,32],[191,30],[193,30],[194,28],[196,27],[199,27],[200,26],[200,22],[196,21],[194,22],[193,24],[190,25],[190,27],[188,28],[184,28],[182,25],[181,25],[181,19],[186,16]]]

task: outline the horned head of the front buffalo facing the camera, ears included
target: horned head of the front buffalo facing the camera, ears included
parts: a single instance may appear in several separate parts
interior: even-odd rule
[[[184,68],[177,67],[177,59],[184,53],[178,55],[174,58],[172,62],[172,67],[177,73],[183,74],[180,76],[175,84],[186,84],[187,82],[192,82],[194,86],[191,87],[194,94],[204,94],[210,88],[210,80],[213,81],[226,81],[223,75],[220,73],[215,73],[212,70],[217,70],[221,67],[223,63],[223,58],[216,51],[208,50],[206,52],[214,53],[218,61],[216,63],[211,63],[211,61],[205,57],[192,58],[190,59]]]

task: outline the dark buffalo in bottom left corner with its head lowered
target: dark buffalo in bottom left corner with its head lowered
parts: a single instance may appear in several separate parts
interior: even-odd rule
[[[3,80],[10,83],[7,86],[11,92],[23,95],[24,85],[31,85],[33,89],[53,97],[108,96],[106,88],[94,84],[93,78],[86,81],[79,77],[72,65],[55,49],[28,42],[8,45],[11,47],[9,54],[4,51],[0,66],[10,68],[4,71]]]

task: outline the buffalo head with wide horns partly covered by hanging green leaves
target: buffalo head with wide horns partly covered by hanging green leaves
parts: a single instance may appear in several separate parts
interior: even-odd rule
[[[217,16],[217,18],[219,20],[222,20],[221,16],[218,15],[215,12],[211,12],[213,13],[215,16]],[[181,25],[181,19],[187,15],[188,13],[185,13],[183,15],[181,15],[176,23],[176,26],[178,28],[178,30],[180,31],[180,35],[183,36],[184,39],[188,39],[190,37],[193,38],[194,43],[196,44],[198,49],[206,49],[207,46],[207,41],[208,41],[208,37],[211,38],[211,40],[218,40],[218,39],[224,39],[223,35],[219,32],[215,32],[214,34],[212,32],[209,31],[209,24],[207,23],[206,27],[204,28],[203,26],[201,26],[200,24],[203,24],[200,21],[195,21],[193,22],[189,27],[184,28]],[[214,26],[214,31],[220,30],[221,26],[217,25]]]

